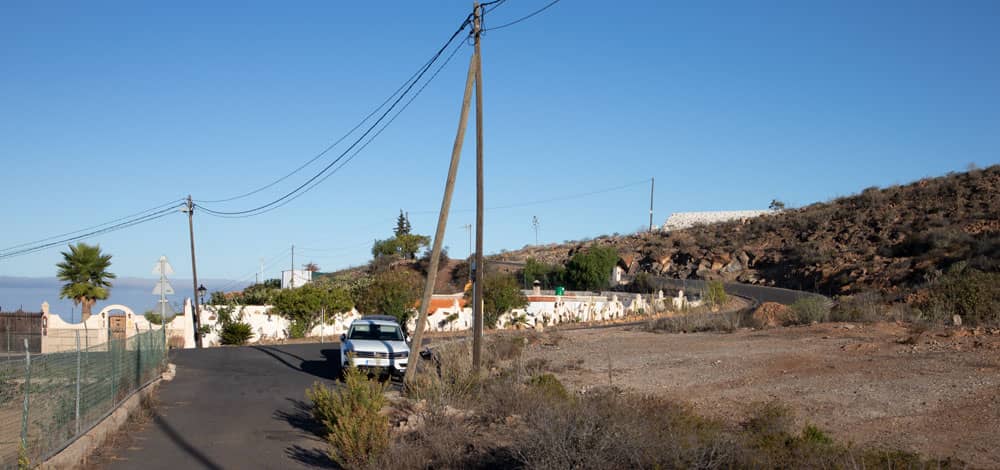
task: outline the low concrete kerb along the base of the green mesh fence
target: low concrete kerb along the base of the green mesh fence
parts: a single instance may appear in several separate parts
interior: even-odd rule
[[[87,459],[104,443],[108,436],[118,432],[128,422],[130,416],[141,410],[143,400],[153,395],[161,382],[164,380],[173,380],[175,374],[176,366],[168,364],[167,369],[160,377],[153,379],[144,387],[133,392],[131,396],[118,405],[108,416],[91,427],[90,430],[78,437],[63,450],[49,457],[39,465],[39,468],[69,470],[86,465]]]

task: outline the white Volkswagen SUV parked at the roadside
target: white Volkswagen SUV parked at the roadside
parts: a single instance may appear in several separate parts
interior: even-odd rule
[[[408,343],[409,338],[395,318],[362,317],[351,322],[347,333],[340,335],[340,365],[386,369],[393,375],[402,375],[410,357]]]

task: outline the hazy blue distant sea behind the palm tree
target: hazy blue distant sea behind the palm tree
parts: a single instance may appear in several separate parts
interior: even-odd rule
[[[158,281],[158,279],[142,278],[115,279],[111,295],[107,300],[97,301],[93,312],[100,312],[105,306],[113,304],[125,305],[138,315],[142,315],[147,310],[156,310],[159,308],[160,298],[153,295],[153,287]],[[170,284],[174,287],[175,294],[168,295],[167,301],[171,309],[180,312],[183,309],[184,299],[191,296],[191,280],[171,279]],[[231,284],[231,281],[206,279],[201,284],[204,284],[211,291],[211,286],[225,286]],[[244,286],[234,287],[230,290],[242,287]],[[0,276],[0,311],[11,312],[21,308],[26,312],[40,312],[42,311],[42,302],[48,302],[49,311],[58,314],[63,320],[80,321],[80,307],[73,305],[72,300],[60,299],[59,290],[61,288],[62,283],[56,278]]]

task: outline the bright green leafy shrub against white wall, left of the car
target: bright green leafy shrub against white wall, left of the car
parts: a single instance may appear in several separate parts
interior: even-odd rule
[[[293,337],[302,337],[316,326],[323,311],[331,318],[353,307],[346,289],[319,283],[284,289],[274,297],[274,311],[292,322],[289,333]]]

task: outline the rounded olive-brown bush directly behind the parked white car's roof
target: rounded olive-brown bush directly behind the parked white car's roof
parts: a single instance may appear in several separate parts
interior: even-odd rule
[[[358,311],[366,315],[392,315],[406,328],[420,298],[423,278],[409,269],[393,269],[358,283],[351,292]]]

